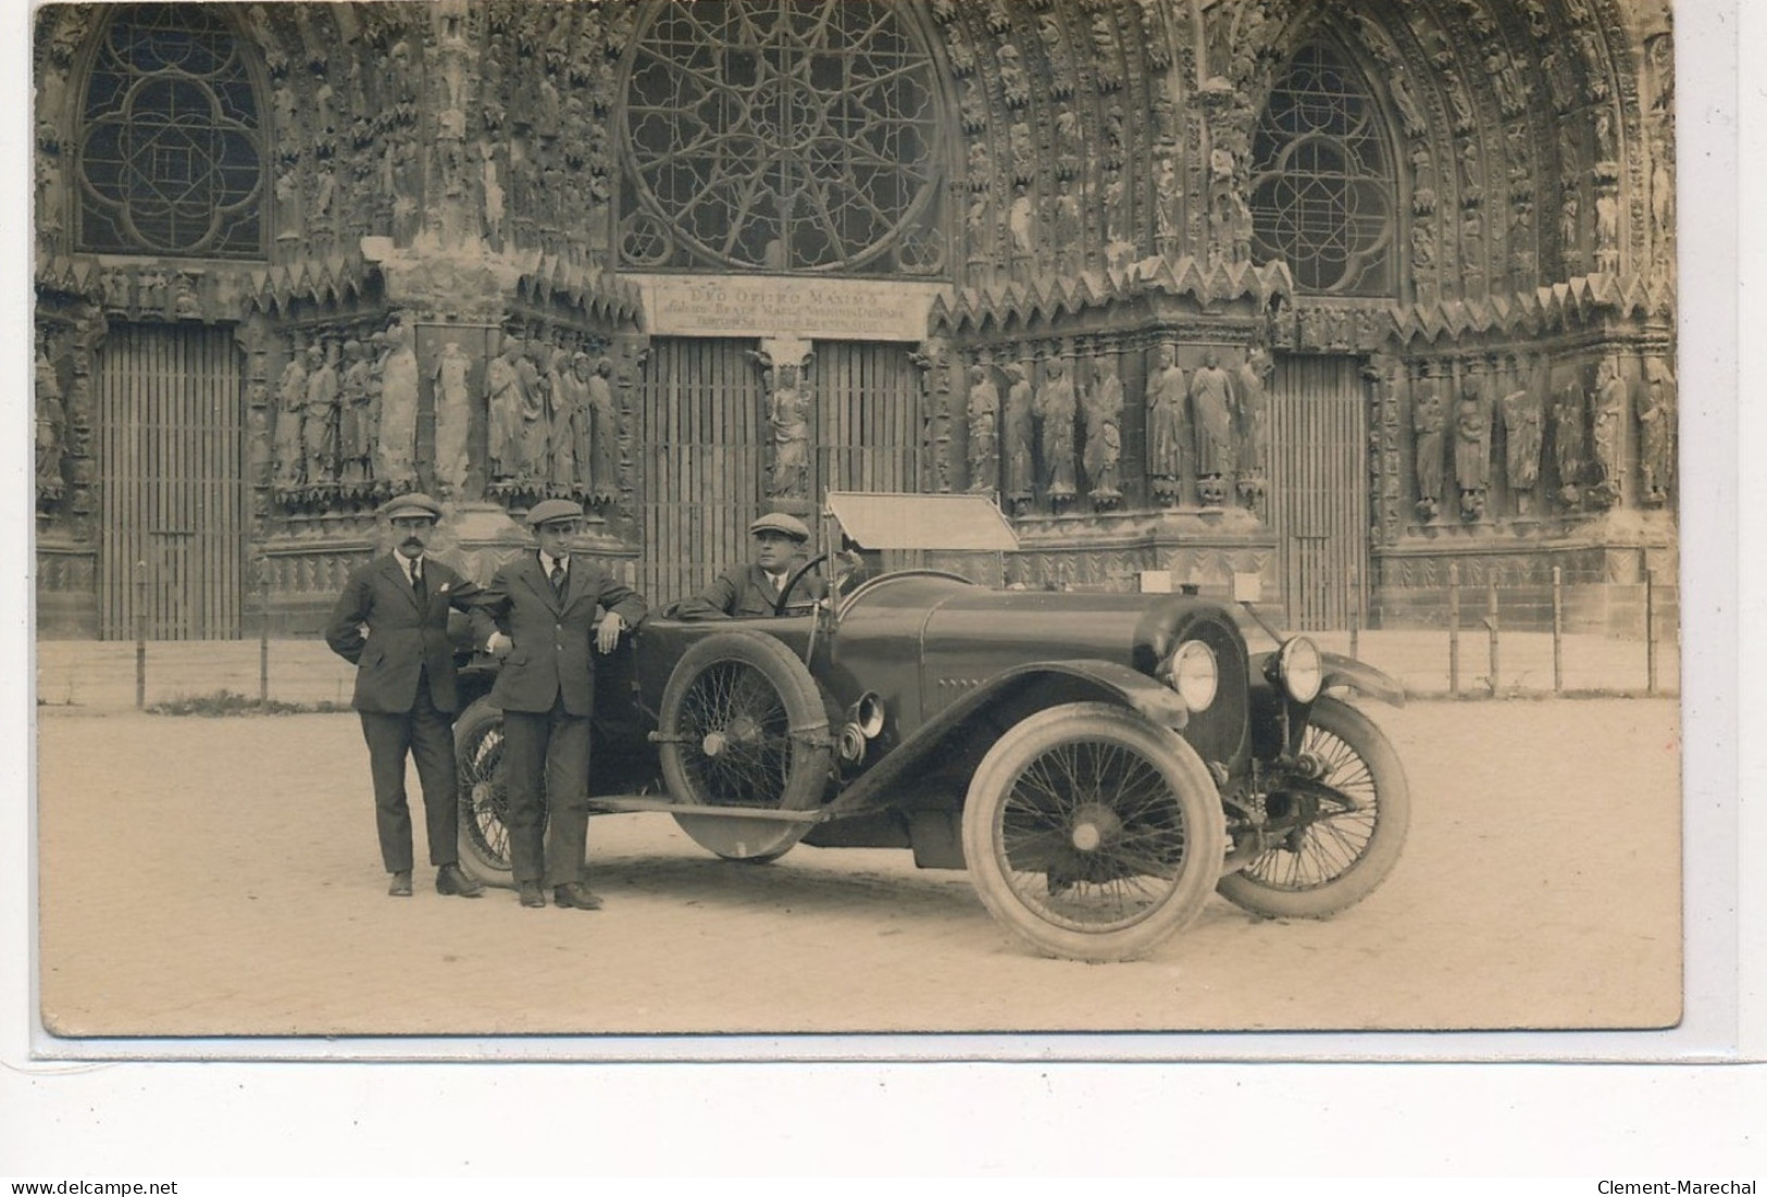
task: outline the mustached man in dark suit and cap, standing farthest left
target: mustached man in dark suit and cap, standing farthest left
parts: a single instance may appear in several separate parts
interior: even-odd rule
[[[447,614],[451,607],[470,609],[482,588],[424,553],[442,516],[433,498],[401,494],[389,500],[380,516],[396,547],[350,576],[325,625],[325,643],[355,666],[353,706],[362,719],[375,779],[380,858],[392,874],[387,893],[412,893],[412,814],[405,802],[405,757],[410,754],[424,791],[436,893],[479,897],[479,883],[459,867],[459,782],[454,773],[459,697]]]

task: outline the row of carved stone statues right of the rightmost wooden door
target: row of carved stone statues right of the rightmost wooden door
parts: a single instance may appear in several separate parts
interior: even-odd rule
[[[1626,473],[1620,425],[1627,413],[1638,429],[1638,501],[1663,507],[1675,466],[1675,374],[1665,358],[1647,357],[1636,383],[1627,381],[1619,357],[1606,357],[1596,365],[1592,390],[1583,373],[1573,371],[1557,387],[1523,381],[1495,401],[1483,378],[1467,376],[1452,411],[1442,380],[1421,378],[1412,397],[1417,516],[1426,524],[1435,521],[1452,480],[1460,519],[1484,519],[1497,427],[1504,433],[1504,482],[1516,516],[1539,514],[1548,431],[1558,505],[1610,508],[1620,500]]]

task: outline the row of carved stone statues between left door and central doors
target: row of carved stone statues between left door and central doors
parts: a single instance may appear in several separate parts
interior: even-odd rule
[[[491,487],[610,501],[617,487],[618,413],[613,364],[544,341],[505,337],[484,364],[447,341],[431,369],[435,486],[468,486],[475,397],[486,413]],[[417,484],[419,381],[415,337],[403,320],[366,337],[299,343],[276,387],[274,484],[405,489]]]

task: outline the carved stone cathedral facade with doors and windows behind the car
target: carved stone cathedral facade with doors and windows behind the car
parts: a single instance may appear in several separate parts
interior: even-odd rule
[[[830,489],[1030,588],[1634,632],[1675,577],[1663,0],[35,14],[39,630],[315,629],[375,508],[654,600]]]

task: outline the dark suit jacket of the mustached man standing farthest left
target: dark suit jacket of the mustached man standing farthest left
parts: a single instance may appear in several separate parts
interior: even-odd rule
[[[396,553],[376,556],[350,574],[337,595],[325,623],[325,643],[355,666],[352,703],[359,711],[412,710],[417,678],[424,674],[436,710],[459,710],[447,613],[449,607],[470,611],[484,588],[428,554],[422,568],[426,598],[421,607]]]

